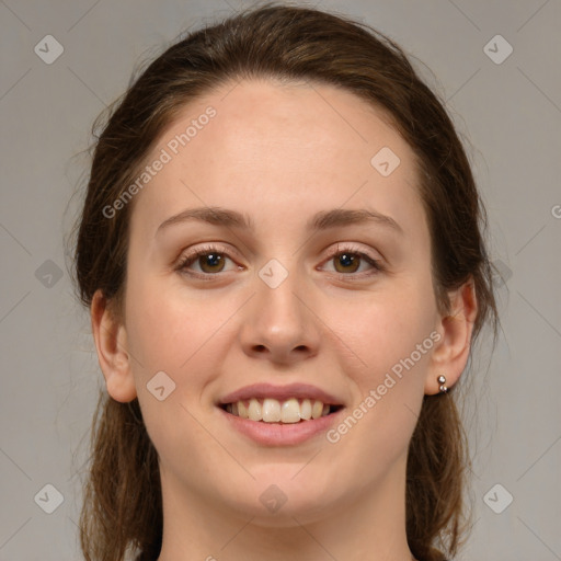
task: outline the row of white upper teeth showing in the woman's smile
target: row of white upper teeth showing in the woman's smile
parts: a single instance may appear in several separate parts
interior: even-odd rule
[[[273,398],[249,401],[238,401],[226,407],[228,413],[264,423],[299,423],[300,420],[309,421],[329,414],[330,407],[319,400],[290,398],[278,401]]]

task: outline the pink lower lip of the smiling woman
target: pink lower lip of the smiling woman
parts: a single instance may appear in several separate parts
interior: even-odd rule
[[[300,421],[299,423],[264,423],[242,419],[228,413],[221,408],[218,409],[226,415],[230,426],[263,446],[294,446],[304,443],[328,431],[345,411],[342,408],[329,415]]]

